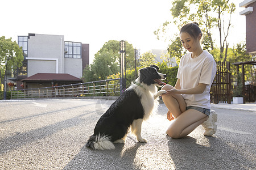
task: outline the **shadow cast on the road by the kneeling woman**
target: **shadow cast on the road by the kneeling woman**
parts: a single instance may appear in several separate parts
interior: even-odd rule
[[[176,169],[250,169],[255,165],[253,159],[242,156],[216,137],[205,137],[208,146],[200,145],[197,139],[188,136],[166,138],[169,139],[169,153]]]

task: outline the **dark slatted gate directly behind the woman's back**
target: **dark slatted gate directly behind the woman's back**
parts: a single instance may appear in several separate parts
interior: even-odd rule
[[[211,103],[228,103],[231,104],[231,73],[230,62],[216,62],[217,71],[210,87]]]

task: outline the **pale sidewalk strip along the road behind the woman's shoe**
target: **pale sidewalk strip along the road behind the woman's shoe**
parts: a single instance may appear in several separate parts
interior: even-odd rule
[[[240,110],[240,111],[251,111],[256,113],[256,103],[246,103],[246,104],[226,104],[226,103],[219,103],[219,104],[210,104],[212,109],[220,108],[220,109],[233,109],[233,110]]]

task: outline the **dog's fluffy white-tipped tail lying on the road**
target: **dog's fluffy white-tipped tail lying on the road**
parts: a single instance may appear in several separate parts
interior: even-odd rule
[[[113,150],[115,148],[109,136],[100,134],[92,135],[88,139],[86,146],[93,150]]]

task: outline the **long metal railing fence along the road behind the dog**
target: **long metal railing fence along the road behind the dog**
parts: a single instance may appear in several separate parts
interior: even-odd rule
[[[63,86],[29,88],[11,91],[11,99],[52,97],[119,96],[120,79],[99,80]]]

